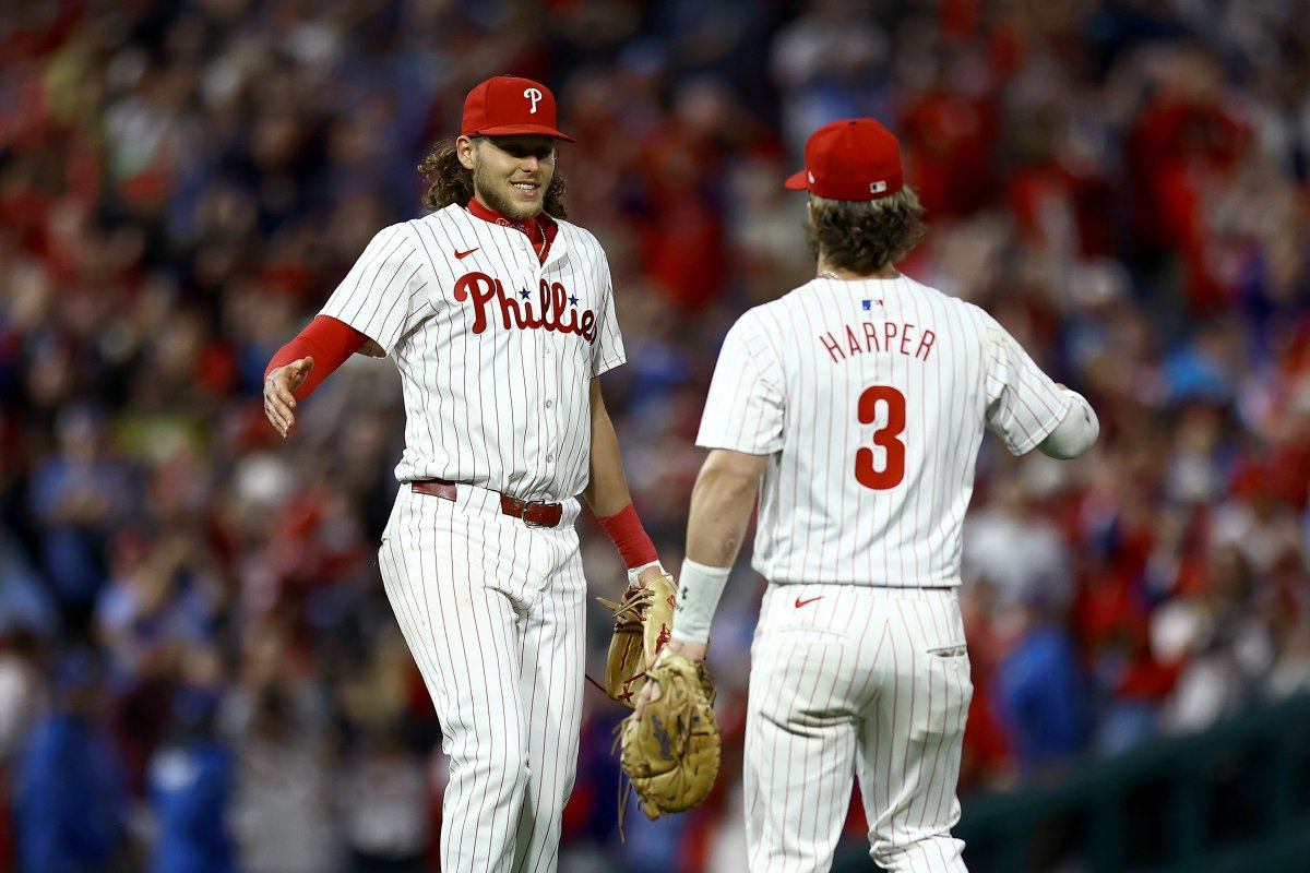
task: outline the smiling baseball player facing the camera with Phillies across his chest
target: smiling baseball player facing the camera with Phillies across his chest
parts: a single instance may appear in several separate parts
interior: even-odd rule
[[[441,869],[554,870],[582,722],[582,495],[645,584],[663,571],[633,510],[597,377],[624,363],[609,266],[565,220],[555,99],[474,88],[460,136],[419,168],[431,215],[383,229],[269,365],[295,408],[351,353],[403,385],[401,482],[379,565],[451,760]]]

